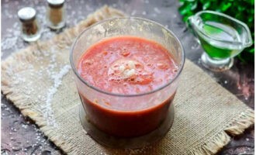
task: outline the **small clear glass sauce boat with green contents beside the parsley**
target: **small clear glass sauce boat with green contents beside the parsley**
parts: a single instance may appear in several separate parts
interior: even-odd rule
[[[247,25],[220,12],[198,12],[189,17],[188,24],[205,51],[203,66],[212,71],[230,69],[233,57],[252,45]]]

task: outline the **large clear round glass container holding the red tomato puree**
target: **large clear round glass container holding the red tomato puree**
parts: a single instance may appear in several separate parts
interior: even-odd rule
[[[113,94],[89,84],[78,74],[78,61],[93,44],[114,36],[137,36],[160,43],[178,65],[175,78],[154,91],[134,95]],[[160,140],[168,132],[174,118],[171,102],[185,61],[182,43],[170,30],[157,22],[134,17],[98,22],[75,40],[70,60],[82,102],[81,123],[94,140],[106,146],[137,148]],[[109,108],[104,102],[119,108]],[[122,108],[125,104],[133,108]]]

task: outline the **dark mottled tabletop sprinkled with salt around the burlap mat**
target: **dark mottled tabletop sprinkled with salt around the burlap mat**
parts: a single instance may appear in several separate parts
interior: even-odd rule
[[[182,17],[178,14],[178,1],[176,0],[67,0],[67,26],[71,27],[88,13],[95,11],[102,5],[110,5],[121,9],[127,14],[153,19],[164,26],[168,26],[182,41],[186,57],[199,67],[202,48],[195,38],[186,29]],[[29,46],[20,37],[20,25],[17,12],[25,6],[32,6],[37,11],[37,19],[42,26],[42,37],[47,40],[60,31],[50,31],[46,26],[47,3],[41,0],[2,0],[2,60],[11,53]],[[254,108],[254,64],[241,64],[237,59],[230,71],[213,73],[202,67],[228,91],[237,96],[242,102]],[[1,104],[1,131],[2,131],[2,154],[60,154],[53,143],[43,136],[43,133],[33,124],[31,120],[23,117],[19,109],[12,105],[4,95]],[[220,151],[219,154],[254,154],[254,126],[241,135],[234,137],[231,142]]]

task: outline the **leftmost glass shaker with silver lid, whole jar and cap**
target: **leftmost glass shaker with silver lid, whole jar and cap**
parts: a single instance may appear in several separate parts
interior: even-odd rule
[[[19,9],[18,17],[22,23],[22,38],[27,42],[33,42],[40,38],[40,26],[36,20],[36,10],[31,7]]]

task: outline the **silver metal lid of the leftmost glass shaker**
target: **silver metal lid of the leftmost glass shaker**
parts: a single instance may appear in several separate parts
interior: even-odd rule
[[[18,17],[21,22],[29,22],[36,18],[36,10],[31,7],[19,9]]]

